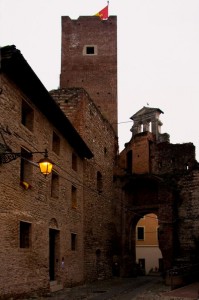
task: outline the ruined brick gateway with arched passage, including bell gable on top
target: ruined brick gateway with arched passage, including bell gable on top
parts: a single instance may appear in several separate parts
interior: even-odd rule
[[[186,209],[183,193],[188,191],[185,185],[190,185],[187,178],[196,168],[195,148],[191,143],[170,144],[169,135],[160,133],[160,113],[159,109],[143,107],[132,117],[133,135],[119,157],[116,197],[122,205],[122,276],[134,275],[136,225],[149,213],[156,214],[159,221],[163,271],[172,268],[178,260],[190,260],[190,245],[183,240],[186,226],[182,213]]]

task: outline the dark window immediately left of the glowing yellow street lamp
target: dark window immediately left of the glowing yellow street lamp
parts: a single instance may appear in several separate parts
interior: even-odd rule
[[[21,153],[20,181],[30,183],[33,172],[33,166],[31,164],[32,155],[24,148],[21,148]]]

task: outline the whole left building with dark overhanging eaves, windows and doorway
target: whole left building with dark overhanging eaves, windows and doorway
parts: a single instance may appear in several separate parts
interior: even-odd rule
[[[1,155],[22,153],[0,165],[0,297],[82,283],[84,160],[93,153],[14,46],[1,49],[0,76]],[[43,154],[26,155],[45,149],[47,177],[36,163]]]

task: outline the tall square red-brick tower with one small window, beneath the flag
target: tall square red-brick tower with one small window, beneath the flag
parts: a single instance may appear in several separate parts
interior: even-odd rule
[[[62,17],[60,88],[84,88],[117,134],[117,17]]]

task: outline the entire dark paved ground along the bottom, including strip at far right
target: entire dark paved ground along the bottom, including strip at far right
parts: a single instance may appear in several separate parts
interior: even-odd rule
[[[39,300],[197,300],[199,282],[171,290],[160,276],[115,277],[65,288]]]

